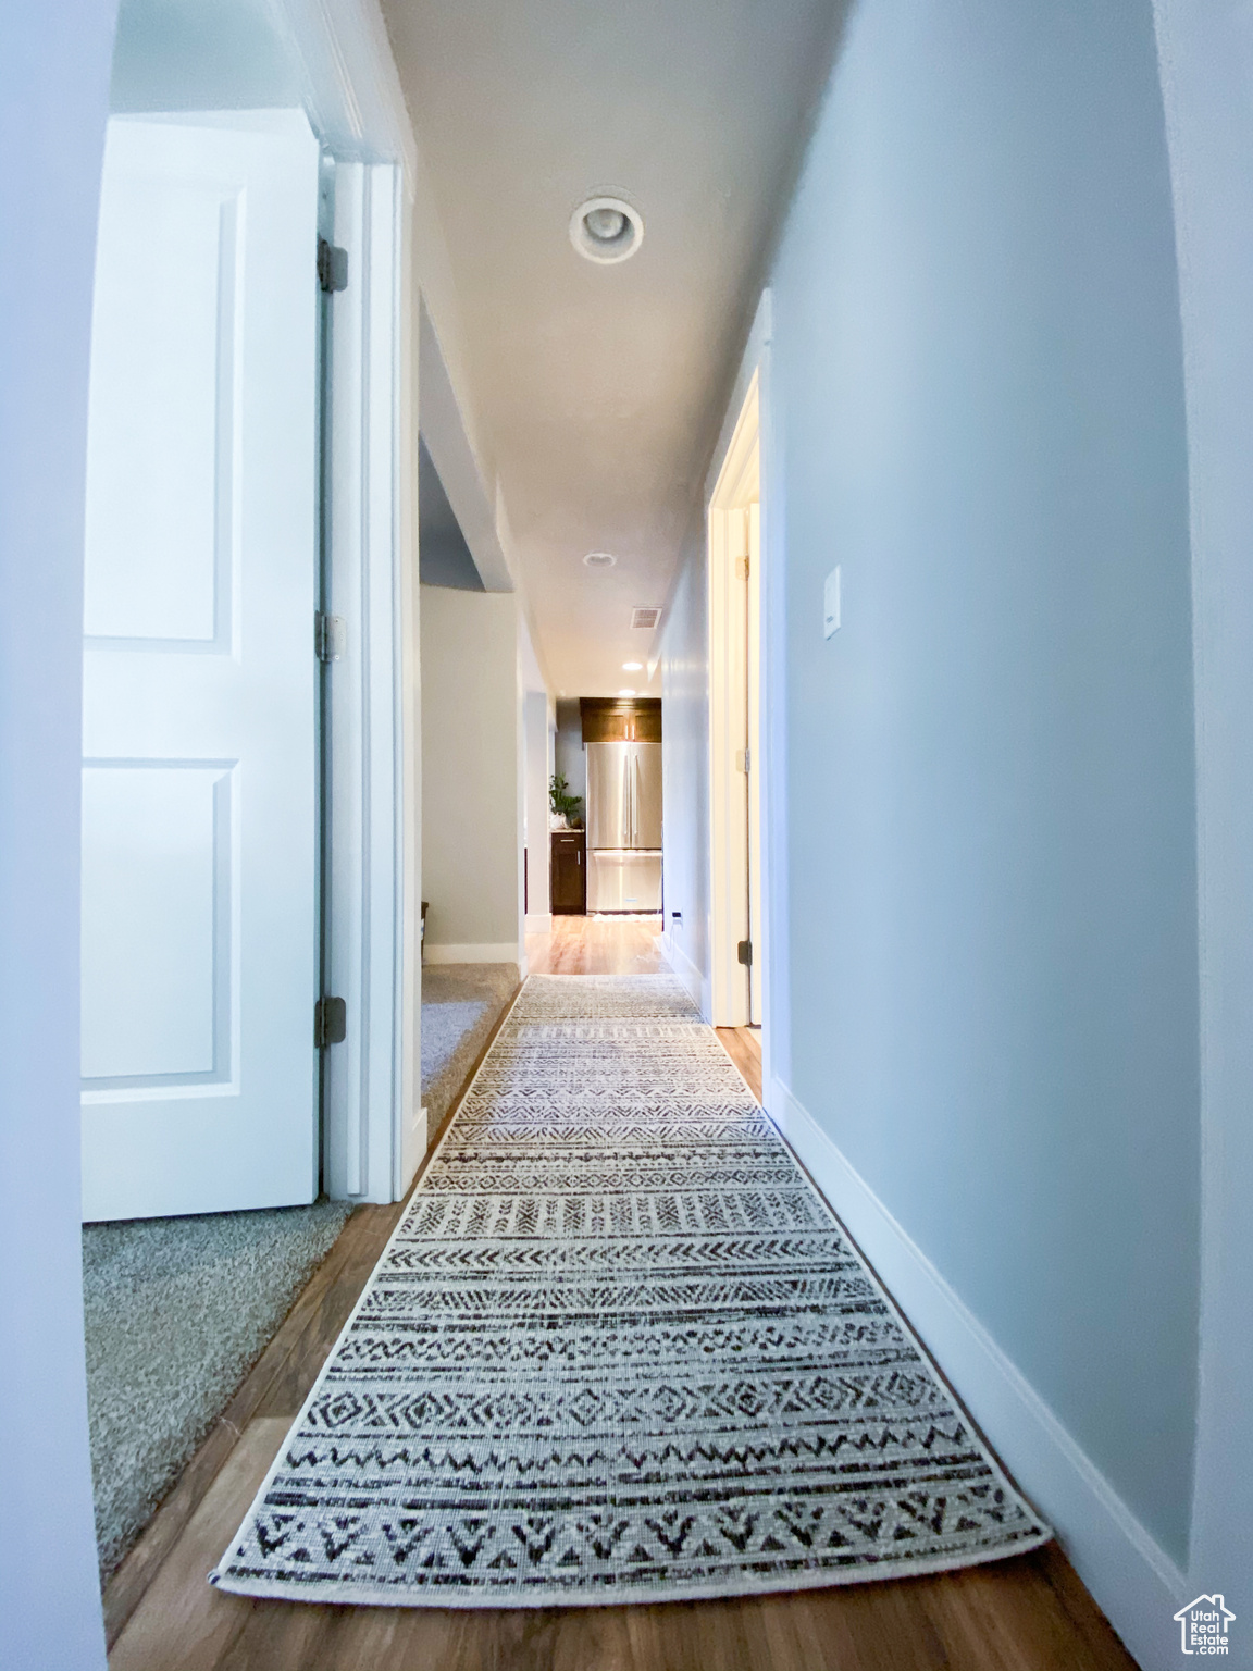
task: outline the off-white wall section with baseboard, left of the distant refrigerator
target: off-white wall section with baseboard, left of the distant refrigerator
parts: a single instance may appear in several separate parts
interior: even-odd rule
[[[419,587],[429,962],[520,962],[518,617],[508,592]]]

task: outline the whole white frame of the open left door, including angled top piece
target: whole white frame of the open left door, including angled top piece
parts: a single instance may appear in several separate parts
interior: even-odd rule
[[[277,0],[301,102],[332,192],[324,236],[347,251],[329,301],[329,670],[336,784],[322,932],[346,1038],[322,1053],[322,1186],[396,1201],[426,1151],[421,1108],[421,712],[416,576],[419,281],[426,175],[374,0]],[[312,632],[312,628],[311,628]],[[329,787],[329,785],[327,785]]]

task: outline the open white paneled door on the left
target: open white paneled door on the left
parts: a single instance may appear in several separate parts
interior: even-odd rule
[[[117,117],[87,460],[84,1218],[317,1193],[317,144]]]

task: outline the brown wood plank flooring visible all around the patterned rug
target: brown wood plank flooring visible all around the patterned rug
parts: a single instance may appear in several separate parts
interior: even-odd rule
[[[548,942],[535,947],[536,971],[665,969],[652,944],[660,921],[555,922],[551,937],[533,937]],[[758,1034],[725,1028],[718,1036],[760,1096]],[[112,1671],[1134,1671],[1056,1544],[961,1572],[665,1606],[331,1608],[212,1589],[205,1574],[242,1521],[399,1211],[353,1215],[120,1567],[105,1597]]]

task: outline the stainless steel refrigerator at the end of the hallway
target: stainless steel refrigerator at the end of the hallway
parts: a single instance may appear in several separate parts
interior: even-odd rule
[[[590,742],[588,911],[662,909],[662,744]]]

